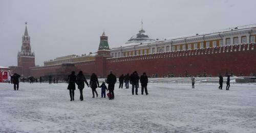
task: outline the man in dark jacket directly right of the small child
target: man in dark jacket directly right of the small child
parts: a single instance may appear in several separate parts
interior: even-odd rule
[[[109,84],[109,93],[110,93],[110,100],[115,98],[114,89],[116,84],[116,76],[110,71],[110,74],[108,75],[108,78],[106,78],[106,83]]]

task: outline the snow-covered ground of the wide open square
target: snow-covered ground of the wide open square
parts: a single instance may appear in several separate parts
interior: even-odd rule
[[[70,101],[67,86],[0,83],[0,132],[256,132],[252,84],[150,84],[147,96],[116,85],[115,100],[86,88],[84,101],[78,90]]]

